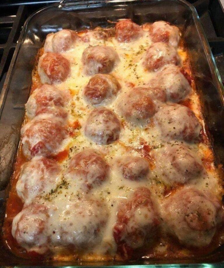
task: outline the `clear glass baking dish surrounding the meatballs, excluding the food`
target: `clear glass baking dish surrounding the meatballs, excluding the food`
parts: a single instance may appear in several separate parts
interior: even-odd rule
[[[185,47],[190,56],[192,72],[201,97],[206,128],[216,157],[216,164],[224,163],[223,84],[211,54],[207,39],[195,8],[183,0],[111,0],[111,1],[62,1],[45,7],[31,15],[21,32],[3,90],[0,95],[0,212],[1,226],[5,215],[4,201],[10,188],[9,178],[13,171],[20,128],[24,118],[24,104],[29,97],[31,72],[38,49],[43,46],[46,35],[61,29],[82,30],[86,28],[111,27],[111,21],[131,18],[138,24],[165,20],[181,28]],[[0,226],[0,227],[1,227]],[[224,260],[224,246],[204,257],[194,259],[156,260],[137,262],[60,262],[35,263],[14,256],[0,244],[1,266],[123,266],[132,267],[220,267]],[[194,264],[193,264],[194,263]],[[166,265],[167,264],[167,265]],[[125,267],[128,267],[125,266]],[[198,267],[198,265],[197,265]]]

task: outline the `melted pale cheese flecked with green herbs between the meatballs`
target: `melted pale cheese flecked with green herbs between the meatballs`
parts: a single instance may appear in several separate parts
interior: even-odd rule
[[[118,92],[117,97],[107,105],[107,108],[113,110],[118,116],[122,123],[122,129],[119,140],[110,145],[97,145],[84,134],[85,123],[88,115],[95,108],[95,106],[85,102],[83,97],[83,89],[85,85],[88,84],[90,76],[84,74],[81,58],[84,49],[88,47],[89,44],[111,46],[120,57],[120,62],[117,66],[115,66],[111,74],[114,75],[121,84],[121,90]],[[61,150],[68,147],[70,148],[68,159],[65,159],[61,163],[64,174],[67,172],[71,157],[73,157],[77,152],[85,150],[85,148],[92,148],[99,152],[104,156],[104,159],[110,166],[108,179],[100,186],[90,190],[87,194],[89,198],[94,198],[104,202],[106,206],[104,211],[108,211],[109,215],[104,228],[101,230],[101,240],[97,240],[97,243],[91,243],[91,247],[88,248],[89,252],[94,252],[98,255],[104,255],[107,252],[109,252],[110,255],[116,254],[117,247],[113,238],[113,226],[116,222],[117,206],[121,200],[127,199],[134,189],[140,186],[149,188],[152,192],[153,199],[155,200],[159,213],[161,211],[161,205],[164,202],[163,193],[165,185],[162,183],[162,179],[160,181],[160,176],[162,175],[158,175],[153,167],[151,167],[151,171],[148,173],[146,180],[130,181],[123,178],[115,164],[115,160],[118,157],[127,155],[143,157],[145,154],[148,154],[149,152],[145,151],[145,145],[149,146],[151,150],[156,150],[156,148],[160,148],[168,143],[164,142],[164,139],[162,139],[160,130],[157,126],[154,126],[151,122],[145,125],[126,122],[124,118],[119,115],[117,107],[120,94],[128,92],[134,86],[144,86],[151,78],[156,76],[156,72],[148,72],[142,65],[145,51],[150,44],[152,44],[152,42],[148,36],[148,32],[144,32],[143,37],[139,40],[129,43],[117,42],[114,37],[108,38],[107,40],[92,39],[90,43],[77,41],[74,48],[62,53],[62,55],[70,61],[71,73],[67,80],[57,84],[56,86],[63,90],[69,90],[72,93],[72,100],[67,107],[67,110],[69,111],[68,120],[71,123],[78,120],[81,124],[81,129],[76,130],[74,136],[68,137],[64,140],[60,147]],[[183,63],[186,57],[185,52],[178,49],[178,54]],[[197,94],[192,92],[190,99],[192,101],[192,110],[195,112],[199,121],[202,122]],[[204,148],[202,148],[202,146],[200,147],[194,143],[169,141],[169,144],[178,143],[186,144],[201,158],[203,157]],[[148,161],[150,164],[150,159],[148,159]],[[195,188],[203,191],[210,190],[215,195],[218,195],[221,191],[221,187],[218,183],[218,173],[215,171],[203,172],[195,180],[190,180],[188,184],[194,185]],[[48,236],[52,236],[53,230],[63,226],[62,217],[64,217],[64,210],[69,210],[69,200],[75,199],[78,201],[78,198],[83,197],[83,195],[84,193],[79,188],[78,183],[66,177],[66,183],[55,185],[55,188],[52,189],[52,193],[50,191],[47,195],[43,193],[38,200],[36,200],[36,202],[46,203],[47,205],[51,205],[53,203],[54,206],[58,207],[57,212],[52,209],[52,212],[50,213],[49,228],[47,231]],[[74,213],[75,210],[71,209],[73,217]],[[88,224],[87,222],[83,222],[85,220],[82,220],[78,216],[74,217],[74,221],[74,225],[76,227],[78,224],[80,224],[80,226],[82,226],[82,224]],[[71,226],[68,226],[68,228],[71,229]],[[77,229],[77,232],[82,233],[82,230]],[[58,239],[60,239],[60,237],[58,237]],[[55,241],[56,240],[57,237],[55,238]],[[53,247],[51,250],[56,251],[56,248]],[[166,249],[164,249],[163,252],[165,251]]]

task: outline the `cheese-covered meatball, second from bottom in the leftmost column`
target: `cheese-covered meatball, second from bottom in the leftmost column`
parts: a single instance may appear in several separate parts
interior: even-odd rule
[[[61,168],[53,159],[36,156],[26,162],[16,183],[18,196],[30,203],[40,194],[46,194],[60,182]]]

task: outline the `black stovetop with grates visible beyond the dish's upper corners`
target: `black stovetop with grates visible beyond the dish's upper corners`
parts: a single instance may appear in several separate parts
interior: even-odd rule
[[[222,0],[190,0],[198,12],[224,83],[224,10]],[[0,93],[25,20],[55,0],[6,0],[0,3]]]

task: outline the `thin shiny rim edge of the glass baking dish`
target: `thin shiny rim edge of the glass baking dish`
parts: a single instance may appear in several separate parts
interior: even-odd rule
[[[159,2],[159,1],[173,1],[173,0],[152,0],[152,1]],[[204,29],[201,25],[197,11],[192,4],[188,3],[185,0],[175,0],[175,1],[182,2],[183,4],[187,5],[190,8],[190,11],[192,12],[192,17],[194,19],[194,23],[196,25],[197,31],[199,31],[199,35],[202,38],[203,47],[204,47],[204,50],[206,52],[206,58],[207,58],[207,61],[209,62],[209,68],[210,68],[210,71],[212,74],[212,80],[213,80],[213,82],[218,90],[220,100],[224,106],[224,87],[223,87],[220,75],[218,73],[218,68],[216,66],[216,62],[215,62],[215,59],[214,59],[213,54],[211,52],[208,40],[205,37]],[[25,32],[27,31],[27,27],[29,25],[29,22],[32,20],[32,18],[34,18],[34,16],[37,16],[39,13],[44,12],[48,9],[53,8],[53,7],[60,8],[62,10],[77,10],[77,9],[81,9],[81,8],[83,8],[83,9],[84,8],[93,8],[93,7],[97,8],[98,6],[105,6],[105,5],[110,4],[110,3],[122,5],[122,3],[131,3],[131,2],[137,2],[137,0],[109,0],[109,1],[104,1],[104,0],[96,0],[96,1],[94,1],[94,0],[90,0],[90,1],[62,0],[62,1],[60,1],[60,3],[55,3],[55,4],[52,4],[52,5],[49,5],[47,7],[43,7],[41,9],[39,9],[38,11],[31,14],[24,23],[23,29],[20,33],[20,37],[18,39],[18,43],[17,43],[16,49],[15,49],[15,52],[13,54],[13,58],[12,58],[9,70],[12,70],[14,65],[15,65],[17,55],[18,55],[20,48],[21,48],[21,45],[24,41]],[[144,2],[146,2],[146,1],[144,1]],[[3,90],[2,90],[1,95],[0,95],[0,116],[1,116],[1,112],[2,112],[5,98],[7,95],[7,87],[9,85],[11,75],[12,75],[12,72],[11,71],[8,72],[4,86],[3,86]],[[131,264],[113,265],[112,264],[112,265],[109,265],[109,267],[125,267],[125,268],[126,267],[150,267],[150,268],[152,268],[152,267],[157,267],[157,268],[158,267],[209,267],[210,268],[211,267],[212,268],[212,267],[221,267],[223,262],[224,262],[224,256],[223,256],[223,261],[218,262],[218,263],[198,263],[198,264],[195,264],[195,263],[175,264],[174,263],[174,264],[139,264],[139,265],[136,265],[136,264],[133,264],[133,265],[131,265]],[[14,267],[20,267],[20,266],[14,266]],[[41,267],[48,267],[48,266],[46,266],[46,264],[43,263],[43,266],[41,266]],[[54,267],[83,267],[83,266],[75,265],[75,266],[54,266]],[[92,267],[92,266],[88,266],[88,264],[87,264],[85,267]],[[108,267],[108,266],[102,265],[100,267]]]

